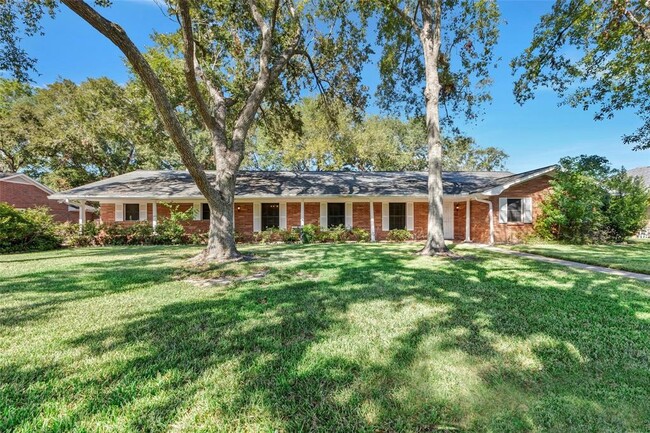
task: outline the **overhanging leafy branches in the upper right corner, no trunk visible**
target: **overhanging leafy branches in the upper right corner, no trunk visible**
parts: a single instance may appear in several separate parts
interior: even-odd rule
[[[631,109],[643,124],[623,141],[650,148],[650,10],[645,0],[557,0],[512,61],[520,104],[539,87],[596,120]]]

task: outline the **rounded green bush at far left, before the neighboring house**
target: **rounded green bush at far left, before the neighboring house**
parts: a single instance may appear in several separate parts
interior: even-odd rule
[[[58,248],[60,244],[48,208],[19,211],[0,202],[0,252],[44,251]]]

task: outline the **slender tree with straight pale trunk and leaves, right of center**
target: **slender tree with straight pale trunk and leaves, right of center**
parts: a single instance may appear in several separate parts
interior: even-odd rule
[[[458,0],[376,0],[380,12],[378,43],[386,110],[400,107],[421,113],[427,130],[429,219],[422,254],[447,251],[442,228],[442,131],[452,115],[472,120],[490,99],[487,85],[498,38],[497,2]],[[419,92],[424,88],[424,104]]]

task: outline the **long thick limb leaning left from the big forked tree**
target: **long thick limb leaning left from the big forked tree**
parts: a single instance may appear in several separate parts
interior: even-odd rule
[[[164,86],[140,50],[138,50],[133,41],[119,25],[104,18],[84,1],[61,0],[61,2],[94,27],[99,33],[113,42],[113,44],[115,44],[115,46],[118,47],[126,56],[131,66],[133,66],[133,70],[138,74],[149,91],[156,107],[156,111],[160,116],[160,120],[174,142],[183,164],[192,175],[197,187],[205,197],[214,199],[216,196],[216,190],[208,181],[205,171],[194,153],[193,146],[188,140],[185,131],[178,120],[176,111],[169,101]]]

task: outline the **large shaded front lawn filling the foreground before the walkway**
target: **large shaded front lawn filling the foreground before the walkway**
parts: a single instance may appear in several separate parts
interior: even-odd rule
[[[650,285],[416,247],[0,256],[0,431],[650,430]]]

